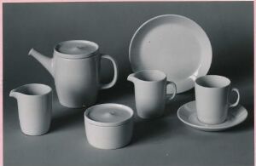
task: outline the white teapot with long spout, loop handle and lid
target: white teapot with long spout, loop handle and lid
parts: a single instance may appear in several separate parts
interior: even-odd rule
[[[31,49],[28,53],[38,60],[54,77],[55,89],[62,106],[89,107],[96,103],[98,91],[113,87],[118,78],[118,66],[108,54],[101,54],[96,43],[70,40],[58,43],[49,58]],[[99,79],[101,60],[113,64],[113,80],[102,84]]]

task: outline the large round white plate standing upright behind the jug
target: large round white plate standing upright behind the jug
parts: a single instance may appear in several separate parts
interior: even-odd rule
[[[133,72],[155,69],[177,84],[177,93],[192,89],[196,77],[207,74],[212,46],[201,26],[184,16],[165,14],[140,26],[131,38]],[[168,93],[171,92],[168,87]]]

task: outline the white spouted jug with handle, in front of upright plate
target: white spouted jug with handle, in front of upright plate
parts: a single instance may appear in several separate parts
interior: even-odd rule
[[[165,112],[166,101],[177,92],[176,84],[166,80],[166,74],[157,70],[143,70],[130,74],[127,80],[134,83],[137,115],[142,118],[160,117]],[[172,86],[172,96],[166,96],[166,87]]]

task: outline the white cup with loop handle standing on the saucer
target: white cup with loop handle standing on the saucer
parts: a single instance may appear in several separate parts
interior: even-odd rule
[[[195,80],[195,103],[197,117],[201,123],[223,123],[230,107],[240,100],[238,89],[230,89],[230,79],[223,76],[207,75]],[[230,104],[230,93],[236,92],[236,102]]]

